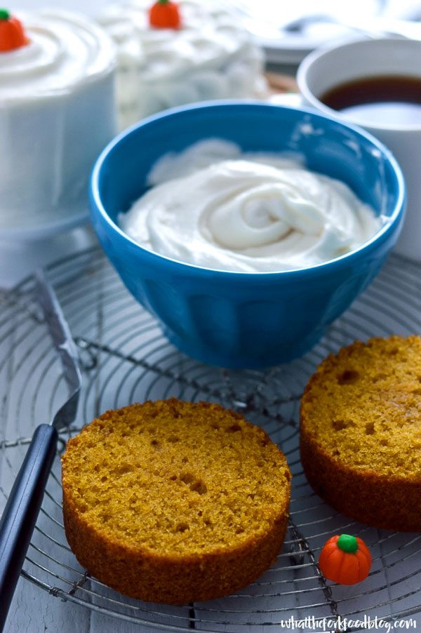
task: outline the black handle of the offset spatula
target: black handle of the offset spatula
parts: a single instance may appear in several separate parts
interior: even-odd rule
[[[0,521],[0,631],[32,538],[57,450],[58,434],[51,425],[36,427],[25,460]]]

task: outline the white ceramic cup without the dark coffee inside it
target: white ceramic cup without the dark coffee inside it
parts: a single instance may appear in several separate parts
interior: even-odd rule
[[[301,62],[297,81],[306,105],[336,119],[360,125],[392,151],[402,168],[407,187],[406,219],[394,250],[421,261],[421,123],[370,121],[368,124],[356,114],[338,112],[320,100],[335,86],[382,75],[421,79],[421,41],[359,39],[319,48]]]

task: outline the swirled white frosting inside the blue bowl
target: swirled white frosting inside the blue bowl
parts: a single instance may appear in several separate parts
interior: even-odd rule
[[[197,171],[180,161],[187,175],[177,158],[163,159],[177,177],[119,218],[141,246],[178,261],[245,272],[302,268],[352,251],[382,223],[343,182],[279,156],[239,154]]]

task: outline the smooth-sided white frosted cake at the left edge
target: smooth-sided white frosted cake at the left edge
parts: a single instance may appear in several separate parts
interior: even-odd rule
[[[107,34],[67,11],[14,16],[26,39],[0,48],[2,236],[87,213],[93,161],[116,131],[115,48]]]

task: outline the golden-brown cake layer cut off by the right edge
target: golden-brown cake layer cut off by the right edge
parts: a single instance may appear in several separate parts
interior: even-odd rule
[[[309,484],[351,519],[421,531],[421,338],[372,338],[317,368],[301,401]]]

